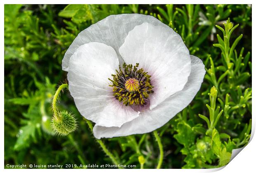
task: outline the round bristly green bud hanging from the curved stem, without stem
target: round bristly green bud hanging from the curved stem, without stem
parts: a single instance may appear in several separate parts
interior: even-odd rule
[[[58,113],[52,118],[52,129],[61,136],[66,136],[76,130],[76,118],[67,111]]]

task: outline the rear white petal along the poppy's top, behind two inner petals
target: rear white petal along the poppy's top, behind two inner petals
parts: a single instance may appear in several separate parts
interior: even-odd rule
[[[101,42],[113,47],[119,57],[120,64],[123,64],[123,60],[119,55],[119,47],[123,44],[128,32],[135,26],[144,22],[152,23],[156,26],[168,27],[153,16],[146,16],[143,14],[119,14],[108,16],[78,34],[65,53],[62,60],[62,70],[69,71],[70,57],[79,46],[89,42]]]

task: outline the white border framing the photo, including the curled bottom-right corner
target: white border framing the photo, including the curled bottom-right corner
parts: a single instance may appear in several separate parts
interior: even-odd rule
[[[241,2],[243,4],[252,4],[252,7],[254,9],[254,3],[256,2],[255,0],[207,0],[207,1],[202,1],[202,0],[86,0],[86,1],[82,1],[82,0],[1,0],[1,5],[0,5],[0,11],[2,12],[1,15],[1,40],[4,40],[4,4],[82,4],[82,3],[88,3],[88,4],[145,4],[147,2],[147,4],[202,4],[202,3],[207,3],[207,4],[240,4]],[[256,5],[256,4],[255,4]],[[252,23],[254,23],[255,20],[255,13],[252,13]],[[254,29],[254,25],[252,25],[252,30]],[[252,32],[252,45],[255,45],[255,34],[254,32]],[[1,42],[1,51],[2,55],[4,54],[4,47],[3,47],[3,42]],[[252,59],[254,59],[254,61],[252,61],[252,66],[256,67],[255,64],[255,51],[254,49],[252,49]],[[3,56],[2,56],[3,57]],[[1,169],[4,170],[4,172],[23,172],[23,173],[34,173],[35,170],[34,169],[4,169],[4,121],[3,121],[3,116],[4,116],[4,58],[1,58],[1,62],[0,62],[0,81],[1,81],[1,85],[0,85],[0,98],[1,98],[1,102],[2,104],[0,104],[0,111],[1,111],[1,117],[2,117],[2,128],[1,128],[1,142],[0,142],[0,146],[1,146],[1,157],[2,157],[2,164],[1,164]],[[252,74],[254,74],[255,68],[252,68]],[[256,83],[256,79],[255,79],[255,75],[252,75],[252,86],[255,86]],[[253,87],[254,88],[254,87]],[[254,89],[252,89],[252,95],[254,96],[255,94]],[[72,173],[74,172],[83,172],[83,173],[92,173],[92,172],[103,172],[104,173],[116,173],[116,172],[145,172],[145,173],[156,173],[156,172],[166,172],[166,173],[183,173],[183,172],[188,172],[188,173],[205,173],[205,172],[216,172],[218,171],[218,173],[253,173],[256,172],[256,139],[254,137],[254,132],[255,132],[255,122],[256,122],[256,117],[255,117],[255,103],[254,103],[254,97],[252,97],[252,130],[251,130],[251,139],[250,139],[250,143],[244,147],[244,149],[241,151],[239,149],[235,150],[235,152],[232,152],[232,161],[230,161],[230,163],[227,166],[223,166],[222,168],[215,168],[215,169],[160,169],[160,170],[156,170],[156,169],[144,169],[144,170],[140,170],[140,169],[123,169],[123,170],[119,170],[119,169],[38,169],[36,170],[37,173],[45,173],[45,171],[47,171],[47,173],[50,172],[61,172],[61,173],[70,173],[72,171]],[[254,138],[253,138],[254,137]],[[241,152],[240,152],[241,151]]]

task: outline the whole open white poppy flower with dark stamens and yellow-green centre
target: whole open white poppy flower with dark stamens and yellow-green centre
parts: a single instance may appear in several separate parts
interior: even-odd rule
[[[163,126],[190,104],[205,74],[180,35],[142,14],[111,15],[83,30],[62,69],[78,111],[95,122],[96,138]]]

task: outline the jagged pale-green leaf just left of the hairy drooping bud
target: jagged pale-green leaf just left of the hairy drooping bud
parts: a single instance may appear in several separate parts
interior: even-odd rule
[[[47,115],[45,105],[49,106],[55,84],[50,84],[48,78],[46,78],[45,82],[45,84],[41,84],[35,80],[35,84],[39,89],[35,93],[28,95],[27,91],[24,90],[21,98],[9,99],[9,102],[14,105],[28,105],[28,112],[22,113],[26,119],[21,119],[23,126],[19,129],[19,133],[17,133],[18,138],[14,145],[14,150],[24,149],[29,147],[32,141],[36,142],[36,134],[41,137],[41,126],[42,130],[46,133],[54,134],[52,129],[47,127],[50,125],[50,122],[47,120],[50,119],[51,115]]]

